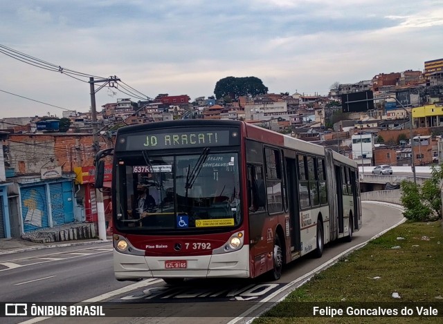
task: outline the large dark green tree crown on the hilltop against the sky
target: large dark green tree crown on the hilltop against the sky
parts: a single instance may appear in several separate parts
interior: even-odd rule
[[[214,94],[217,99],[228,95],[237,100],[240,96],[264,95],[268,88],[257,77],[225,77],[215,84]]]

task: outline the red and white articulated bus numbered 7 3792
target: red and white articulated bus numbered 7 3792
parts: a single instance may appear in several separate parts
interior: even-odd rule
[[[118,280],[278,280],[283,265],[361,228],[356,162],[246,122],[127,126],[113,154]]]

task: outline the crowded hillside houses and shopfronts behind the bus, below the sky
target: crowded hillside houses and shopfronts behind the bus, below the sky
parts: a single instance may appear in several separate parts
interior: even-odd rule
[[[362,93],[374,100],[350,106],[349,98]],[[63,111],[61,118],[2,118],[0,238],[28,238],[39,229],[97,222],[97,149],[113,147],[121,126],[183,119],[242,120],[331,148],[360,166],[435,164],[443,160],[443,59],[424,62],[423,72],[336,82],[328,95],[295,90],[191,99],[164,93],[137,102],[118,98],[101,104],[96,116]],[[99,148],[93,145],[93,129],[99,131]],[[109,220],[110,163],[106,171],[103,198]]]

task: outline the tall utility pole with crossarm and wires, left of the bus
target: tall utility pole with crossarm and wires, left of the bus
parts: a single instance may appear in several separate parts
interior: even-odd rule
[[[89,90],[91,91],[91,119],[92,119],[92,149],[94,153],[100,150],[98,142],[98,126],[97,126],[97,110],[96,110],[96,93],[104,88],[106,85],[114,86],[112,82],[120,81],[116,76],[108,79],[101,79],[94,81],[93,77],[89,77]],[[95,84],[102,83],[102,85],[95,90]],[[100,189],[96,189],[97,202],[97,218],[98,218],[98,238],[106,240],[106,222],[105,222],[105,206],[103,204],[103,193]]]

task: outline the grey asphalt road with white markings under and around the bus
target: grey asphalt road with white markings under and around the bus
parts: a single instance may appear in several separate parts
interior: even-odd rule
[[[96,297],[106,301],[106,318],[48,318],[52,323],[235,323],[253,309],[257,314],[270,307],[309,278],[325,263],[402,219],[401,211],[386,205],[363,202],[363,228],[350,243],[334,242],[323,257],[301,258],[284,269],[282,278],[255,280],[189,280],[179,287],[163,280],[119,283],[114,279],[111,247],[63,248],[0,256],[0,301],[81,302]],[[60,251],[58,251],[60,250]],[[17,260],[21,259],[21,260]],[[122,289],[127,291],[123,292]],[[105,294],[109,293],[109,294]],[[102,295],[105,294],[105,295]],[[102,295],[102,296],[100,296]],[[98,297],[97,297],[98,296]],[[257,303],[261,302],[261,303]],[[243,315],[242,315],[243,314]],[[6,321],[3,321],[5,319]],[[20,323],[27,318],[2,318],[2,323]],[[25,323],[37,323],[43,318]]]

